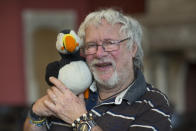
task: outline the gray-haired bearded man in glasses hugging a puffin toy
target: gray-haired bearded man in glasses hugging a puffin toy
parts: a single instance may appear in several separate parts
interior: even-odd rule
[[[140,24],[114,9],[99,10],[85,18],[78,35],[81,55],[94,76],[89,98],[74,95],[51,77],[55,86],[33,104],[24,130],[171,130],[167,97],[146,83],[142,73]]]

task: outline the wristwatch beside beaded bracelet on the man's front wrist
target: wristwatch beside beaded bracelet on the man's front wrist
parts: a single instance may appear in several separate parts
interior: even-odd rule
[[[77,131],[91,131],[96,125],[94,120],[83,121],[78,125]]]

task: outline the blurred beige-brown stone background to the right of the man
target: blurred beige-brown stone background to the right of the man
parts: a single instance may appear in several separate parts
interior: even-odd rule
[[[145,75],[168,95],[176,130],[196,130],[196,1],[149,0],[144,26]]]

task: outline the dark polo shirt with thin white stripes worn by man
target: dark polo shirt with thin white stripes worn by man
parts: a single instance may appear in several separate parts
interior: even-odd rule
[[[97,103],[95,83],[86,100],[88,111],[103,131],[170,131],[171,109],[167,97],[145,82],[141,71],[135,81],[117,97]],[[70,125],[51,120],[51,131],[71,131]]]

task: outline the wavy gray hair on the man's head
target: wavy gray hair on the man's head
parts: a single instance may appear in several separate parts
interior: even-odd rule
[[[131,37],[132,40],[127,43],[128,48],[131,48],[133,43],[137,44],[138,47],[136,56],[133,59],[134,67],[143,69],[143,49],[141,46],[142,28],[138,21],[131,16],[124,15],[123,13],[114,9],[102,9],[90,13],[86,16],[84,22],[80,25],[78,30],[78,35],[82,42],[84,43],[86,28],[92,24],[101,24],[102,19],[105,19],[111,25],[122,25],[119,33],[123,33],[127,37]]]

